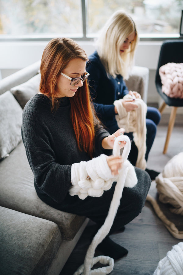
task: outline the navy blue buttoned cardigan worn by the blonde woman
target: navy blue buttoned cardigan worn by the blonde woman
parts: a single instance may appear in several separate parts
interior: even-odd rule
[[[117,75],[115,79],[112,76],[108,78],[96,51],[89,56],[86,71],[90,74],[88,81],[95,111],[108,127],[112,121],[116,123],[113,102],[123,98],[129,91],[121,75]]]

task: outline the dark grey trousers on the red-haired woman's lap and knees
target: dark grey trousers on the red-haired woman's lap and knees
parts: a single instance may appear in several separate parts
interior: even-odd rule
[[[122,226],[131,222],[139,215],[145,204],[151,179],[142,169],[135,167],[135,172],[138,178],[138,183],[133,188],[124,187],[120,205],[114,218],[113,226],[110,229],[110,233],[117,231]],[[64,200],[64,205],[62,204],[59,209],[77,215],[86,216],[96,222],[100,228],[107,217],[115,186],[116,182],[113,183],[110,190],[104,191],[101,197],[88,196],[86,199],[81,200],[78,196],[72,197],[68,195],[66,200]]]

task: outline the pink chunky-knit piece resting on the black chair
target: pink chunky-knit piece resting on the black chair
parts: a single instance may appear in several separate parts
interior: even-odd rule
[[[169,97],[183,98],[183,63],[167,63],[160,67],[162,92]]]

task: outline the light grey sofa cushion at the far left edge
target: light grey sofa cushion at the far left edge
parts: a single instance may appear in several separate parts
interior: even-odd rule
[[[10,91],[0,95],[0,159],[21,141],[22,108]]]

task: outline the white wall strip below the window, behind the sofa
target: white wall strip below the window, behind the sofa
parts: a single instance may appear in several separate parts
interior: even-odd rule
[[[23,68],[41,59],[48,42],[0,42],[0,69]],[[91,54],[95,45],[90,41],[78,41],[86,53]],[[161,42],[139,42],[135,65],[156,69]]]

